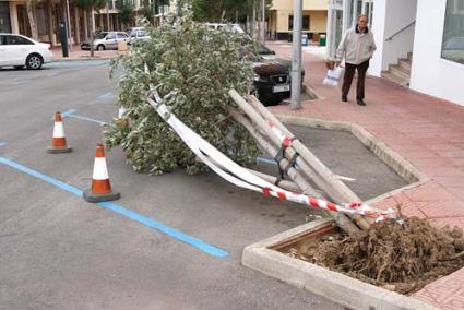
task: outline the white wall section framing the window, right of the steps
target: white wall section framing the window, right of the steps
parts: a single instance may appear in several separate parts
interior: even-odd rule
[[[418,0],[409,87],[464,106],[464,64],[441,59],[447,0]]]

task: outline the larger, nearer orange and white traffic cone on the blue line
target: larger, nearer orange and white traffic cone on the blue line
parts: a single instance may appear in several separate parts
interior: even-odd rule
[[[94,174],[92,176],[92,188],[84,191],[82,196],[87,202],[102,202],[117,200],[120,193],[114,192],[109,183],[108,169],[106,168],[105,148],[102,143],[97,144],[95,151]]]

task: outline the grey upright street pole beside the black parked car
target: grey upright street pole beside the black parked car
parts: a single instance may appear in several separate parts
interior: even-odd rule
[[[301,109],[301,28],[302,0],[294,0],[294,32],[292,56],[292,99],[290,109]]]

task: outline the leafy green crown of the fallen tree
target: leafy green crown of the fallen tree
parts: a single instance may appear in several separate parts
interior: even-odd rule
[[[150,85],[157,85],[164,103],[187,126],[240,165],[250,164],[259,148],[250,133],[230,118],[234,105],[228,90],[242,94],[252,85],[250,59],[242,55],[241,35],[211,29],[192,21],[191,11],[169,15],[158,28],[148,25],[151,39],[133,45],[111,63],[111,75],[121,67],[118,105],[129,123],[114,122],[105,129],[107,147],[121,145],[136,171],[154,175],[183,168],[188,174],[203,169],[193,153],[146,104]],[[146,64],[150,71],[144,71]]]

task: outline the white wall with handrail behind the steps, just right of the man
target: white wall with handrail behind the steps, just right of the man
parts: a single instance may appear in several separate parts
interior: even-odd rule
[[[417,0],[376,0],[373,5],[372,32],[377,52],[369,73],[380,76],[390,64],[396,64],[400,58],[406,58],[413,51],[414,24],[388,40],[396,32],[416,20]]]

